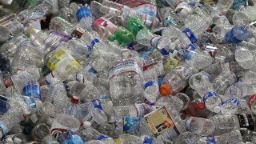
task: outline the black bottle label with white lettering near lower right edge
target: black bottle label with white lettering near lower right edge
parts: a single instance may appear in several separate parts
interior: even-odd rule
[[[238,114],[237,116],[241,128],[247,128],[254,131],[254,118],[251,114]]]

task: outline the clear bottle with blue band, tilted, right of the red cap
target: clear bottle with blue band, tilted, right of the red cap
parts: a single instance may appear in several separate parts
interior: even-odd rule
[[[214,113],[221,110],[221,98],[214,91],[213,85],[210,83],[210,75],[205,72],[194,74],[190,77],[190,86],[194,90],[198,90],[198,94],[202,97],[206,108]]]

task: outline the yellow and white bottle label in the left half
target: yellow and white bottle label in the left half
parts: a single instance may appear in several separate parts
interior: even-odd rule
[[[63,62],[65,62],[65,65]],[[56,70],[59,65],[62,65],[62,70],[65,70],[64,73],[69,73],[80,67],[80,64],[64,49],[59,50],[47,62],[47,66],[52,71]]]

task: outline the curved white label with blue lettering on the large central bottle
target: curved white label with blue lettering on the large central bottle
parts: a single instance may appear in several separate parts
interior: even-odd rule
[[[137,62],[134,62],[132,60],[119,62],[118,64],[111,67],[109,70],[109,78],[111,79],[115,75],[126,73],[126,72],[135,72],[139,74],[141,78],[143,78],[141,67],[138,66]]]

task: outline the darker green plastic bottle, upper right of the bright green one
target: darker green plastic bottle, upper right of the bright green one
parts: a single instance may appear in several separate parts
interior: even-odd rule
[[[149,30],[138,18],[130,18],[130,20],[126,23],[126,29],[134,34],[134,36],[138,34],[139,30]]]

